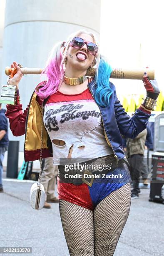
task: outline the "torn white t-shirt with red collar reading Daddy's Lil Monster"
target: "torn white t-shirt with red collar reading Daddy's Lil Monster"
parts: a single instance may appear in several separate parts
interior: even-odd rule
[[[89,93],[89,89],[86,89],[82,94],[77,94],[78,98],[82,95],[82,98],[86,99],[75,100],[76,95],[56,92],[56,101],[58,101],[59,95],[60,101],[67,101],[51,102],[52,100],[55,101],[54,94],[53,99],[45,105],[43,119],[52,141],[53,163],[55,165],[60,165],[60,158],[71,158],[75,163],[78,163],[85,161],[85,159],[91,160],[113,154],[113,150],[107,144],[104,136],[99,107],[93,98],[88,99]],[[65,144],[59,146],[53,140],[62,140]],[[72,150],[69,154],[71,146]]]

